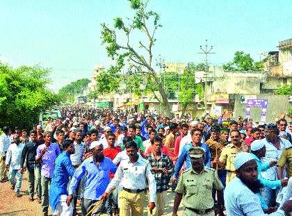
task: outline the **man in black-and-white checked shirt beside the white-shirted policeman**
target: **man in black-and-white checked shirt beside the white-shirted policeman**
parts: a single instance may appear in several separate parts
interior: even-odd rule
[[[162,139],[159,136],[155,136],[151,143],[154,151],[145,156],[145,159],[149,160],[156,181],[156,208],[154,208],[153,215],[161,216],[166,203],[169,176],[172,176],[175,169],[173,169],[170,157],[161,153]]]

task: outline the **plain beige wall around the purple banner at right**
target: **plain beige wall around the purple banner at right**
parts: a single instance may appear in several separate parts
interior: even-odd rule
[[[282,111],[287,113],[289,108],[292,108],[292,103],[288,101],[286,95],[257,95],[257,99],[268,99],[268,107],[266,111],[266,123],[275,123],[277,115],[281,115]],[[234,103],[234,118],[238,119],[238,116],[245,118],[246,115],[246,103],[241,104],[241,94],[236,95]],[[250,118],[254,122],[261,122],[261,108],[252,107]]]

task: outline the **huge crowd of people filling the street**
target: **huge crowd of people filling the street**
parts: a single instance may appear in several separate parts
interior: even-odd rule
[[[155,112],[59,108],[62,117],[26,131],[3,127],[0,181],[42,215],[287,215],[292,212],[292,126],[285,114],[252,119],[169,118]],[[15,133],[13,133],[15,132]],[[7,176],[8,174],[8,176]],[[35,197],[36,195],[36,197]],[[81,205],[81,213],[76,206]],[[96,207],[96,208],[94,208]]]

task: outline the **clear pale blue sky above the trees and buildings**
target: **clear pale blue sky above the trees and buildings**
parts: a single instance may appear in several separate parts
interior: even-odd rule
[[[206,40],[214,52],[208,56],[210,65],[232,61],[236,51],[258,61],[259,54],[277,51],[279,41],[292,38],[291,0],[149,0],[147,8],[160,15],[163,25],[156,31],[154,65],[159,55],[165,63],[202,63],[200,46]],[[134,17],[129,1],[1,0],[0,61],[14,68],[50,68],[49,88],[58,92],[90,78],[95,65],[107,69],[115,64],[101,44],[100,24],[113,27],[116,17],[125,23],[126,17]],[[145,35],[133,32],[131,44],[135,47],[139,40],[147,43]],[[118,42],[123,44],[124,38]]]

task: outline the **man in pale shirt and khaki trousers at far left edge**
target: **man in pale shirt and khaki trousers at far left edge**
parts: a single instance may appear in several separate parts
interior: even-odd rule
[[[9,128],[8,126],[3,127],[3,133],[0,136],[0,182],[8,181],[8,176],[6,175],[7,169],[5,167],[6,152],[10,146],[10,138],[8,136]]]

